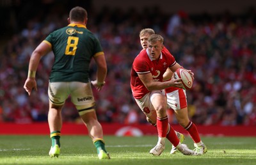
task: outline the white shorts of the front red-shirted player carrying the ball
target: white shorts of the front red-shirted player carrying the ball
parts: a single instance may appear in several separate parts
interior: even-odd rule
[[[143,98],[140,100],[136,99],[136,103],[140,107],[141,111],[146,114],[146,116],[150,117],[152,115],[153,111],[156,111],[154,109],[154,106],[152,105],[152,100],[154,97],[157,95],[164,95],[164,90],[163,91],[151,91],[150,93],[147,93]]]

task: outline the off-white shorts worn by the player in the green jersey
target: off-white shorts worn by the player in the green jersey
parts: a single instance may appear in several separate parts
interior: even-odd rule
[[[83,109],[86,112],[95,110],[91,83],[76,81],[49,83],[48,95],[49,101],[57,106],[65,104],[65,100],[70,96],[77,110]]]

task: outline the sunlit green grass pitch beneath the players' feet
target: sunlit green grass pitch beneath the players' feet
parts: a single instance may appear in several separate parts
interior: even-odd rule
[[[110,160],[99,160],[95,146],[88,136],[61,136],[59,158],[48,155],[49,136],[0,136],[0,164],[111,164],[111,165],[255,165],[256,138],[202,137],[208,152],[201,156],[170,155],[171,144],[160,156],[149,154],[157,143],[157,136],[116,137],[104,136]],[[189,148],[193,141],[186,137]]]

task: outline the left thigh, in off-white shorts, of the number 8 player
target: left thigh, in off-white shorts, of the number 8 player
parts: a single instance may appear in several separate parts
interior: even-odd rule
[[[62,106],[69,95],[67,82],[49,83],[48,96],[52,105]],[[51,107],[51,105],[50,105]]]

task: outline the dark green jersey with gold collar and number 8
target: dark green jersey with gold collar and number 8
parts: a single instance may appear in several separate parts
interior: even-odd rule
[[[99,40],[82,24],[69,24],[52,32],[44,40],[52,47],[54,64],[50,82],[88,83],[93,56],[104,55]]]

